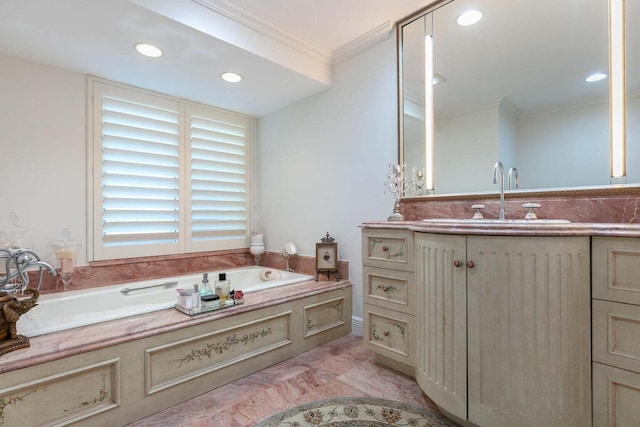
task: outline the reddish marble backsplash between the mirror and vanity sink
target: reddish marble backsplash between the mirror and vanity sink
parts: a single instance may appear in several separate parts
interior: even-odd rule
[[[521,219],[527,213],[523,203],[539,203],[536,214],[540,219],[567,219],[578,223],[640,223],[640,190],[625,189],[626,194],[602,195],[597,191],[580,191],[567,196],[542,196],[535,193],[505,194],[505,211],[508,219]],[[485,218],[498,218],[500,201],[497,194],[403,199],[400,209],[406,221],[425,218],[471,218],[471,205],[483,204]]]

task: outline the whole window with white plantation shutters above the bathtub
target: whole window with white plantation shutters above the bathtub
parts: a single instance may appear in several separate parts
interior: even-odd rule
[[[248,246],[252,119],[89,78],[92,260]]]

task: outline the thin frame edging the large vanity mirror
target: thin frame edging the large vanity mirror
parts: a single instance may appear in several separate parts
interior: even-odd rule
[[[396,65],[397,65],[397,90],[398,90],[398,163],[402,164],[404,161],[404,96],[403,96],[403,37],[402,27],[415,19],[426,15],[448,3],[455,0],[434,0],[427,4],[424,8],[407,15],[401,20],[396,22]],[[610,6],[609,6],[610,7]],[[611,38],[611,34],[609,34]],[[625,40],[622,41],[622,50],[625,48]],[[611,57],[611,52],[610,52]],[[611,61],[611,59],[610,59]],[[609,64],[609,72],[611,74],[611,63]],[[624,73],[622,77],[622,84],[624,86]],[[612,95],[611,95],[611,82],[609,88],[609,121],[611,123],[611,109],[612,109]],[[625,100],[623,99],[623,106]],[[626,109],[623,107],[623,110]],[[624,117],[624,116],[623,116]],[[624,121],[624,119],[623,119]],[[613,126],[610,126],[610,132],[613,132]],[[611,141],[609,141],[611,144]],[[623,139],[624,144],[624,139]],[[626,144],[625,144],[626,145]],[[506,198],[550,198],[550,197],[609,197],[609,196],[640,196],[640,184],[610,184],[602,186],[584,186],[584,187],[558,187],[558,188],[540,188],[533,190],[511,190],[508,193],[505,192]],[[428,201],[428,200],[467,200],[467,199],[491,199],[499,197],[496,192],[477,192],[477,193],[452,193],[452,194],[427,194],[424,196],[402,197],[402,201],[414,202],[414,201]]]

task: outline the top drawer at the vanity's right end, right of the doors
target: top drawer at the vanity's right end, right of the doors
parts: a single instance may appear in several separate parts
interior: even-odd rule
[[[592,239],[593,297],[640,304],[640,239]]]

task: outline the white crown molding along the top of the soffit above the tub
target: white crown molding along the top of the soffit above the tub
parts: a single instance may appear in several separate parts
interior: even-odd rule
[[[321,48],[309,40],[264,19],[233,0],[191,0],[207,9],[250,28],[291,49],[331,65],[331,51]]]

